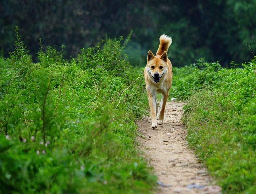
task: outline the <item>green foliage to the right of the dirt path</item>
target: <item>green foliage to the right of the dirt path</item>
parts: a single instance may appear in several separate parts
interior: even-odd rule
[[[256,56],[243,68],[218,63],[174,68],[172,97],[188,99],[188,142],[224,193],[256,190]]]

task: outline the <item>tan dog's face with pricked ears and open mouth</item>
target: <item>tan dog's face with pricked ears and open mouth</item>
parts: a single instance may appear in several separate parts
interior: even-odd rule
[[[158,83],[162,76],[167,72],[167,53],[164,52],[160,57],[154,56],[149,50],[147,58],[147,72],[155,83]]]

